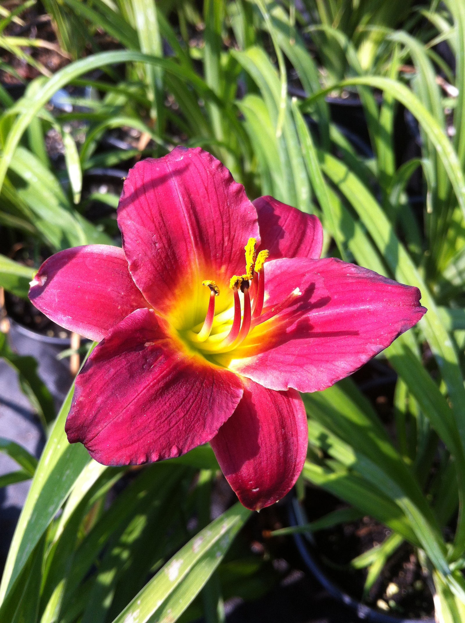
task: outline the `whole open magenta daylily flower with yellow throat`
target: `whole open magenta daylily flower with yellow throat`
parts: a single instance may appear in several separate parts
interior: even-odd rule
[[[308,447],[300,392],[360,368],[420,320],[420,291],[319,259],[315,216],[260,197],[199,148],[139,162],[118,206],[123,249],[52,255],[30,291],[100,341],[66,423],[105,465],[210,442],[243,505],[294,485]]]

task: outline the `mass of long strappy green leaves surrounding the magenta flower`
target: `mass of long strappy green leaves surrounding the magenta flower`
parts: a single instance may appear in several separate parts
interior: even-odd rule
[[[465,7],[44,0],[70,57],[49,75],[20,35],[6,34],[31,4],[2,9],[0,22],[0,46],[41,74],[17,101],[0,88],[0,224],[7,243],[24,249],[21,264],[0,256],[0,285],[26,297],[34,267],[52,252],[119,244],[112,211],[120,187],[92,190],[92,173],[127,170],[183,144],[221,159],[249,196],[271,194],[316,214],[327,255],[420,288],[428,313],[381,356],[397,373],[395,433],[350,379],[305,394],[302,483],[392,531],[365,556],[367,592],[406,541],[438,595],[438,620],[463,621]],[[369,144],[334,123],[327,96],[357,100]],[[399,117],[416,135],[406,156]],[[62,153],[55,160],[50,136]],[[95,218],[96,205],[105,217]],[[12,361],[6,346],[1,356]],[[39,385],[27,386],[50,413]],[[245,571],[230,563],[215,570],[248,511],[232,506],[204,527],[217,470],[210,449],[142,470],[103,467],[67,442],[70,396],[38,465],[14,444],[1,448],[21,465],[17,480],[33,480],[0,619],[188,621],[204,604],[200,613],[221,621],[220,584],[227,590]],[[126,487],[108,505],[117,482]],[[198,527],[189,531],[195,509]],[[200,591],[203,601],[194,601]]]

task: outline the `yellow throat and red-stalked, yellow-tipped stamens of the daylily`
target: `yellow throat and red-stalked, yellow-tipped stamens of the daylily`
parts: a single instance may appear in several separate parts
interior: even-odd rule
[[[256,254],[256,240],[249,238],[245,245],[245,273],[231,278],[229,287],[233,292],[233,304],[221,313],[215,315],[215,298],[220,293],[218,286],[211,280],[202,282],[210,289],[207,314],[203,323],[186,332],[187,340],[196,350],[205,355],[228,353],[242,344],[256,325],[278,313],[275,308],[271,316],[262,313],[265,260],[269,255],[268,250]]]

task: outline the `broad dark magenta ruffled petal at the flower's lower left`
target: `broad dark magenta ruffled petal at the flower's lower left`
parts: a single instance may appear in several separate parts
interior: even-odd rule
[[[65,430],[103,465],[177,457],[212,439],[242,381],[187,354],[153,310],[124,318],[78,375]]]

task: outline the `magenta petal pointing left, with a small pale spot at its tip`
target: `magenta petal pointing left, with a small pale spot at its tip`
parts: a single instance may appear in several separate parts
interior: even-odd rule
[[[49,257],[35,275],[29,298],[58,325],[97,341],[129,313],[148,307],[123,249],[103,244]]]

